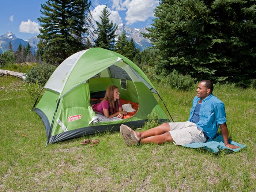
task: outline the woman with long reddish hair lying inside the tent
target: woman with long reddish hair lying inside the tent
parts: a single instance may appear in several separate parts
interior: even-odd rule
[[[108,118],[123,118],[127,114],[122,108],[120,93],[117,86],[111,85],[100,103],[91,105],[94,111],[104,114]]]

